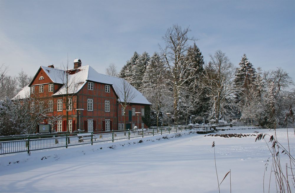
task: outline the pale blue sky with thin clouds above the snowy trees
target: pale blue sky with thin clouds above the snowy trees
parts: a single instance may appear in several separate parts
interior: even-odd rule
[[[236,66],[282,67],[295,80],[295,1],[0,1],[0,64],[9,74],[81,58],[118,71],[134,51],[150,55],[177,23],[209,62],[222,50]],[[193,43],[193,42],[192,42]]]

